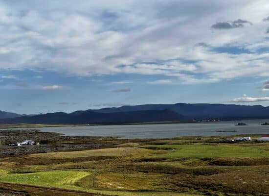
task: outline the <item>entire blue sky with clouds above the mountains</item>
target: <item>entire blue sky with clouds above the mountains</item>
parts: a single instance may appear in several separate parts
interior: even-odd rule
[[[0,110],[269,106],[268,0],[1,0]]]

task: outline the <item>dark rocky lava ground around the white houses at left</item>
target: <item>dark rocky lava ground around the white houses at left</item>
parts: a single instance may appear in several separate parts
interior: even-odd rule
[[[111,137],[70,137],[61,133],[41,132],[39,130],[0,130],[0,157],[112,147],[114,144],[112,139]],[[22,140],[34,140],[40,145],[8,146],[10,143]]]

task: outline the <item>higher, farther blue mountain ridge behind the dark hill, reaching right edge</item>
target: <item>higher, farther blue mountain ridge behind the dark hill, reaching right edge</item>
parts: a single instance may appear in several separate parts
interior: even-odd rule
[[[122,106],[118,108],[102,108],[91,110],[95,112],[130,112],[140,110],[172,110],[191,118],[259,118],[269,117],[269,107],[261,105],[207,104],[207,103],[176,103],[176,104],[147,104]]]

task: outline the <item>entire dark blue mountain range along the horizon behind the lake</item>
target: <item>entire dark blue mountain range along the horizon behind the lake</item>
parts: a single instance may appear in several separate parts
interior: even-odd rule
[[[19,115],[0,112],[0,123],[142,123],[269,118],[269,107],[234,104],[146,104],[102,109]]]

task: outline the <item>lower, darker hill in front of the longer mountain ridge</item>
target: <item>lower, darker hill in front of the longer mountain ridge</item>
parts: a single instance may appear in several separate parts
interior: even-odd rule
[[[143,110],[117,113],[97,113],[88,111],[71,114],[57,112],[33,117],[2,119],[0,120],[0,123],[141,123],[154,121],[179,121],[182,119],[184,119],[182,115],[170,110]]]

